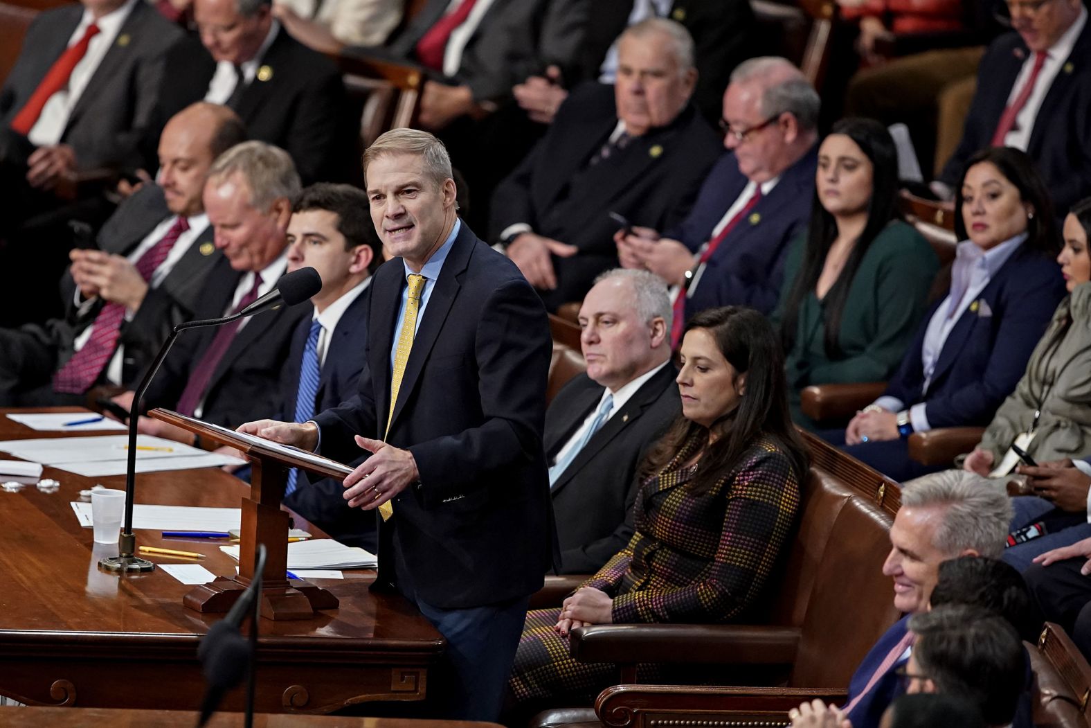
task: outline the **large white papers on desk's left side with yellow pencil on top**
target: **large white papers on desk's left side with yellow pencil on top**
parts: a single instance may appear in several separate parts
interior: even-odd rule
[[[0,442],[0,452],[88,478],[98,478],[124,475],[129,438],[124,434],[111,434],[94,438],[8,440]],[[137,473],[242,464],[244,461],[237,457],[216,455],[173,440],[146,434],[136,438]]]

